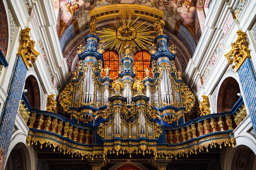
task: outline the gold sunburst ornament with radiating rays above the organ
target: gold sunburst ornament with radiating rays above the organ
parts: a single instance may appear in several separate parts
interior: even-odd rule
[[[130,14],[127,15],[126,11],[121,18],[115,18],[115,22],[108,23],[109,28],[97,31],[102,33],[99,37],[104,38],[100,42],[106,42],[106,46],[118,50],[119,53],[124,51],[126,45],[132,46],[131,51],[147,49],[148,44],[153,44],[150,38],[155,38],[150,33],[155,33],[155,31],[149,31],[151,25],[144,25],[146,21],[137,22],[139,17],[132,18]]]

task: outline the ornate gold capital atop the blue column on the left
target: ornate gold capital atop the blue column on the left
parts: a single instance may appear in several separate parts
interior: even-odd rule
[[[20,55],[27,67],[32,67],[31,62],[36,62],[39,53],[34,49],[35,41],[30,39],[29,36],[30,28],[22,29],[20,33],[20,46],[17,55]]]

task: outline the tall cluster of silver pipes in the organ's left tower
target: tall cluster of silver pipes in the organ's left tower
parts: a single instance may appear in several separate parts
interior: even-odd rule
[[[84,77],[84,82],[83,82],[82,102],[90,103],[90,102],[93,102],[93,99],[94,99],[94,81],[92,79],[92,71],[89,65],[88,71]]]

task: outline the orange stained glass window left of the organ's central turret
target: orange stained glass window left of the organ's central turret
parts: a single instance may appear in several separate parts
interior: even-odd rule
[[[102,78],[105,76],[105,68],[110,68],[109,77],[111,79],[115,79],[118,77],[118,66],[119,66],[119,57],[117,53],[114,51],[106,51],[103,53],[103,61],[104,61],[104,68],[102,73]]]

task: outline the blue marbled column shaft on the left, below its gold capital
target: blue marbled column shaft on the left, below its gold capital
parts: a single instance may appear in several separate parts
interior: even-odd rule
[[[11,141],[15,118],[20,106],[22,91],[25,86],[26,75],[27,68],[25,63],[22,57],[17,55],[7,90],[8,96],[4,102],[0,117],[0,148],[4,148],[5,161],[7,161],[6,156]]]

